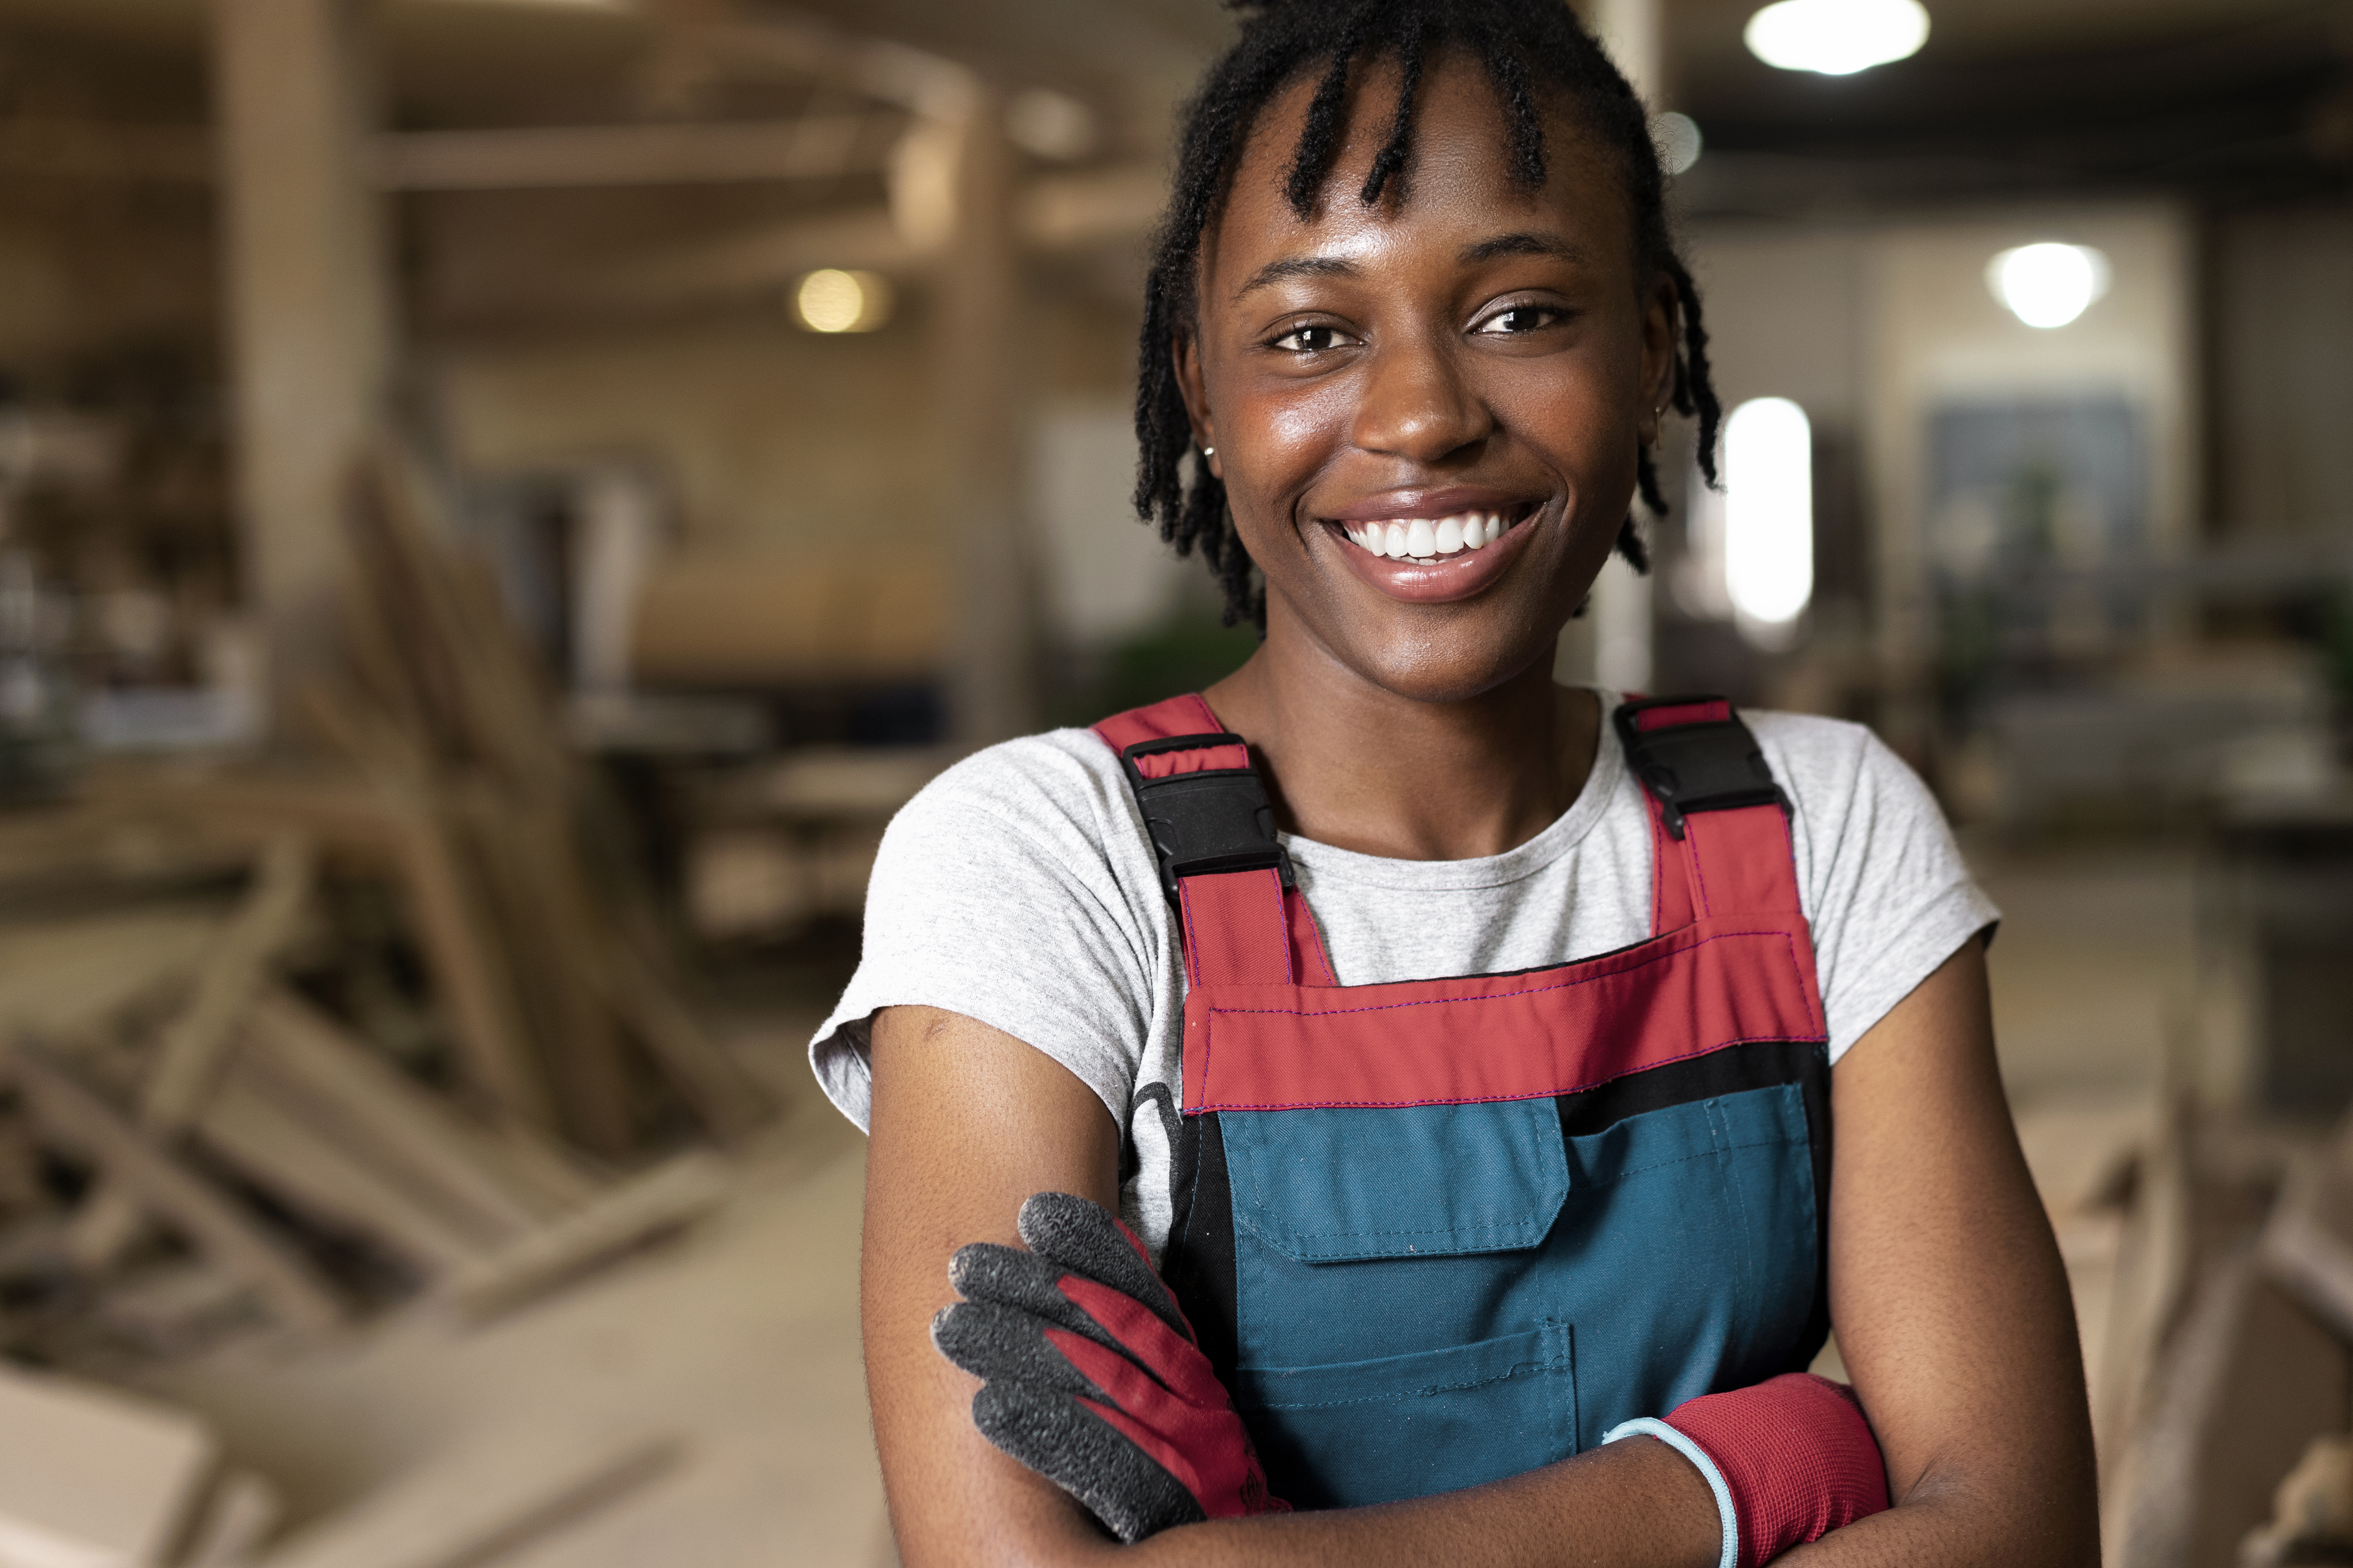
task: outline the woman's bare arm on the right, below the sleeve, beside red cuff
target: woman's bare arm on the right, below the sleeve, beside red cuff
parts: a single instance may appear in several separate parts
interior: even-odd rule
[[[1831,1072],[1831,1319],[1894,1507],[1786,1561],[2099,1561],[2066,1269],[1960,952]]]

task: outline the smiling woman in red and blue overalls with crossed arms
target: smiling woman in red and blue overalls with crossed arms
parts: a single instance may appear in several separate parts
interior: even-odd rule
[[[901,1556],[2092,1561],[1934,804],[1551,679],[1715,440],[1638,99],[1553,0],[1311,2],[1186,115],[1139,503],[1264,644],[936,780],[812,1048]]]

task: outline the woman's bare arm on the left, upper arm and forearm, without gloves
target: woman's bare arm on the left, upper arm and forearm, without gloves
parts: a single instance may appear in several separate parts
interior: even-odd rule
[[[1118,1547],[1054,1483],[972,1427],[979,1382],[932,1349],[955,1300],[948,1255],[1014,1241],[1033,1192],[1118,1208],[1120,1133],[1085,1084],[1019,1039],[958,1013],[887,1009],[873,1039],[861,1269],[866,1385],[908,1568],[1148,1563],[1447,1563],[1701,1568],[1720,1549],[1715,1502],[1673,1450],[1612,1443],[1513,1481],[1421,1502],[1235,1519]]]

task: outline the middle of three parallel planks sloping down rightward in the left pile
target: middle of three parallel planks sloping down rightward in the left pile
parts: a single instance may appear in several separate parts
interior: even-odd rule
[[[374,1237],[426,1274],[447,1274],[482,1253],[475,1237],[353,1159],[327,1131],[287,1114],[240,1070],[205,1105],[195,1135],[285,1204]]]

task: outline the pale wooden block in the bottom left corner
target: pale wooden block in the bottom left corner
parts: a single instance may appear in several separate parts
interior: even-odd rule
[[[214,1455],[193,1415],[0,1363],[0,1561],[155,1568]]]

